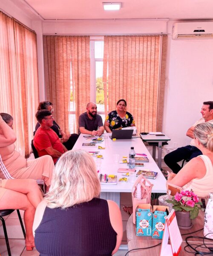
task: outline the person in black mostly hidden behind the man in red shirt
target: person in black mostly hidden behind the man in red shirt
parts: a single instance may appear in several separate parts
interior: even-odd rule
[[[53,104],[52,104],[52,102],[49,102],[49,101],[40,102],[37,110],[41,110],[41,109],[47,109],[52,114],[54,113]],[[35,132],[37,131],[37,128],[39,128],[39,126],[40,126],[40,124],[39,124],[39,122],[37,122],[37,124],[35,126]],[[75,145],[76,141],[78,140],[78,136],[79,136],[78,134],[66,135],[66,133],[60,129],[60,126],[57,124],[57,122],[55,122],[55,120],[53,121],[53,126],[51,127],[51,129],[53,131],[55,131],[55,133],[60,138],[61,143],[63,143],[63,145],[68,150],[71,150],[73,148],[73,146]],[[34,134],[35,134],[35,132],[34,132]]]

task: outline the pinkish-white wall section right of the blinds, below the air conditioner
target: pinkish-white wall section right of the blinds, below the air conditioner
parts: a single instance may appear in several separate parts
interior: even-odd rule
[[[163,121],[163,131],[171,138],[168,148],[190,142],[186,131],[201,118],[202,102],[209,100],[213,100],[213,40],[172,40],[168,35]]]

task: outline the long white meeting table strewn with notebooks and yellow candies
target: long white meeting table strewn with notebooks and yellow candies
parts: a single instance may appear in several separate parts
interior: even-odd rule
[[[115,163],[113,160],[113,154],[119,154],[119,161],[122,160],[123,156],[129,156],[130,147],[134,147],[136,153],[147,154],[149,163],[144,163],[144,167],[135,167],[136,172],[139,169],[150,169],[151,171],[158,172],[158,176],[155,180],[150,180],[154,184],[153,193],[166,193],[166,179],[157,164],[153,160],[146,146],[142,142],[141,138],[133,138],[131,140],[116,140],[113,141],[109,138],[110,133],[104,134],[104,142],[97,143],[96,147],[82,147],[82,143],[92,142],[86,140],[83,135],[80,134],[75,146],[75,149],[83,149],[85,151],[100,151],[104,159],[101,160],[101,168],[99,174],[114,174],[118,176],[118,179],[122,176],[122,173],[117,173],[118,168],[128,168],[127,163]],[[105,147],[105,149],[98,149],[98,145]],[[96,157],[94,157],[96,161]],[[133,183],[118,182],[117,185],[101,185],[101,195],[103,199],[110,199],[115,201],[120,206],[120,192],[132,192]]]

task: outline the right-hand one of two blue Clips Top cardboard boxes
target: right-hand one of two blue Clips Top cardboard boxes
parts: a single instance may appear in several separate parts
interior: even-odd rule
[[[152,225],[152,237],[162,239],[165,227],[165,221],[167,218],[167,212],[169,207],[154,205],[153,206],[153,225]]]

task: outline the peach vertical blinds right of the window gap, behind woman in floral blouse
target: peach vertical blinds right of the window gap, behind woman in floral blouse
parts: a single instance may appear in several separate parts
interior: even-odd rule
[[[167,37],[159,35],[104,37],[105,111],[107,104],[110,112],[118,99],[126,99],[138,131],[162,129],[165,62],[161,65],[161,50],[165,61],[166,42]]]

